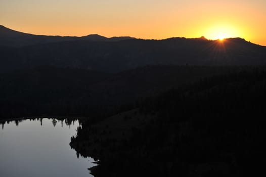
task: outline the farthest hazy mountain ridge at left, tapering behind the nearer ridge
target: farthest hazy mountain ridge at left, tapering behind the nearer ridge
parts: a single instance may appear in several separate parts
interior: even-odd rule
[[[34,35],[15,31],[0,25],[0,46],[23,47],[42,43],[73,41],[73,40],[92,40],[92,41],[119,41],[134,39],[133,37],[111,37],[107,38],[98,34],[91,34],[82,37],[76,36],[47,36]]]

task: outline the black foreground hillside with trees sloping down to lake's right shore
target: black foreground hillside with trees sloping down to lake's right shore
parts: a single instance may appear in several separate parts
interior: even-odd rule
[[[263,69],[205,78],[84,122],[70,145],[96,177],[264,175],[265,88]]]

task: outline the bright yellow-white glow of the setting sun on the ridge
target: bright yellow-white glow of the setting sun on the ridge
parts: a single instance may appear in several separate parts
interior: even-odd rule
[[[239,37],[241,36],[240,32],[232,27],[227,25],[217,25],[207,29],[205,37],[212,40],[219,39],[222,41],[225,38],[230,37]]]

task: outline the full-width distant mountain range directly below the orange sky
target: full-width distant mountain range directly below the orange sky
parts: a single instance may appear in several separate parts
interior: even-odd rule
[[[51,65],[103,72],[120,72],[146,65],[264,65],[266,47],[242,38],[223,41],[205,37],[173,37],[145,40],[132,37],[107,38],[45,36],[0,27],[0,70]]]

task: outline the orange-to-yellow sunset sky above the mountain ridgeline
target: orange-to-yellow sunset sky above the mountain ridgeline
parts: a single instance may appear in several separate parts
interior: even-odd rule
[[[266,46],[266,1],[0,0],[0,24],[44,35],[241,37]]]

